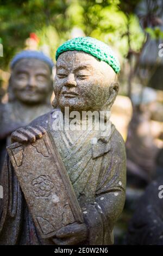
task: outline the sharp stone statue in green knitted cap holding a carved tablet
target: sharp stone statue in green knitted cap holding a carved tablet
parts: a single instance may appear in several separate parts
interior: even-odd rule
[[[73,120],[71,116],[73,111],[78,111],[79,114],[83,111],[97,111],[97,113],[103,111],[103,119],[106,120],[105,113],[110,111],[118,92],[116,73],[120,71],[120,66],[109,46],[89,37],[68,40],[58,48],[56,59],[57,74],[54,80],[54,93],[57,108],[35,119],[29,126],[12,133],[12,141],[19,142],[11,146],[15,150],[15,157],[17,155],[18,157],[17,166],[14,165],[14,169],[11,164],[11,159],[15,161],[13,156],[11,159],[8,155],[6,156],[1,176],[4,199],[1,200],[0,207],[0,243],[110,245],[114,242],[112,231],[125,200],[126,152],[123,139],[112,124],[110,131],[104,135],[101,130],[96,129],[65,129],[66,119],[63,123],[64,129],[55,129],[54,123],[56,120],[60,121],[59,113],[65,117],[66,107],[69,107],[70,122]],[[95,119],[92,120],[95,125]],[[79,118],[78,125],[81,126],[84,121],[87,121],[87,118]],[[47,132],[52,138],[51,145],[53,145],[55,157],[57,151],[61,157],[57,166],[62,165],[62,169],[66,169],[67,182],[70,179],[76,197],[72,196],[72,200],[74,202],[78,200],[83,221],[73,223],[70,220],[70,224],[64,226],[62,223],[65,221],[65,210],[62,212],[62,223],[51,222],[50,225],[52,229],[55,229],[55,224],[61,224],[62,227],[53,232],[52,236],[42,238],[35,220],[37,219],[47,230],[46,228],[49,228],[47,220],[50,220],[54,212],[53,208],[49,208],[49,204],[53,202],[55,208],[58,204],[62,204],[58,198],[60,194],[53,194],[53,196],[51,194],[54,188],[59,193],[61,191],[60,187],[57,187],[57,180],[52,180],[52,170],[49,171],[43,162],[44,159],[49,164],[48,156],[52,152],[49,151],[49,144],[45,137]],[[41,142],[42,139],[44,142]],[[43,149],[42,152],[39,143],[46,144],[46,150]],[[27,153],[28,150],[34,152],[35,156],[40,157],[41,160],[37,162],[33,153]],[[26,162],[27,158],[30,168]],[[22,164],[25,164],[26,168],[23,169]],[[43,174],[45,168],[48,173]],[[15,170],[18,174],[17,178]],[[35,175],[30,183],[28,183],[30,177],[26,175],[27,172]],[[32,191],[29,189],[31,187]],[[62,193],[64,194],[64,191]],[[34,204],[30,198],[40,203]],[[45,202],[47,202],[47,208],[51,210],[47,212],[47,217],[43,221],[38,213],[40,212],[40,216],[43,214],[42,207],[46,210]],[[56,215],[52,218],[56,218]]]

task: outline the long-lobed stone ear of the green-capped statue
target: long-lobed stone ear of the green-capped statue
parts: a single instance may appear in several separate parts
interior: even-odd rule
[[[118,94],[118,90],[119,90],[119,84],[117,82],[112,82],[109,87],[109,98],[108,98],[108,101],[105,103],[106,109],[111,108]]]

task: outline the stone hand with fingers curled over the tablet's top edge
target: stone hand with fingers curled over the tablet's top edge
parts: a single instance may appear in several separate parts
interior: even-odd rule
[[[40,126],[24,126],[11,133],[11,142],[35,142],[42,137],[46,130]]]

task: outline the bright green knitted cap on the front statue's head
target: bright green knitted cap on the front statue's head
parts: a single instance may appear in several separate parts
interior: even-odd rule
[[[104,42],[95,38],[82,36],[64,42],[64,44],[59,46],[55,59],[57,60],[62,52],[67,51],[82,51],[90,53],[93,57],[108,63],[116,73],[120,72],[120,63],[118,62],[114,52],[108,45],[104,44]]]

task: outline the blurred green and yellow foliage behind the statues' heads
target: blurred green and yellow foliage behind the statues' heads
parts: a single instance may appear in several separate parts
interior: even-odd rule
[[[145,39],[139,20],[134,14],[140,1],[120,0],[0,0],[0,38],[4,57],[1,68],[6,69],[14,54],[24,48],[29,33],[40,38],[40,46],[50,46],[54,59],[57,47],[71,38],[74,27],[85,35],[112,44],[123,55],[129,48],[140,50]],[[158,30],[147,29],[151,36]],[[153,34],[154,33],[154,34]],[[161,32],[159,35],[162,36]],[[129,45],[130,44],[130,45]]]

